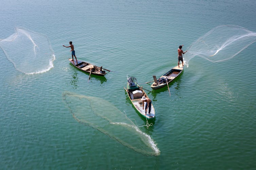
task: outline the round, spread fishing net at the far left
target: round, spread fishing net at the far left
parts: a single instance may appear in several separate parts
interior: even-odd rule
[[[45,35],[23,28],[15,28],[15,32],[0,40],[0,47],[17,71],[37,74],[54,67],[55,55]]]

